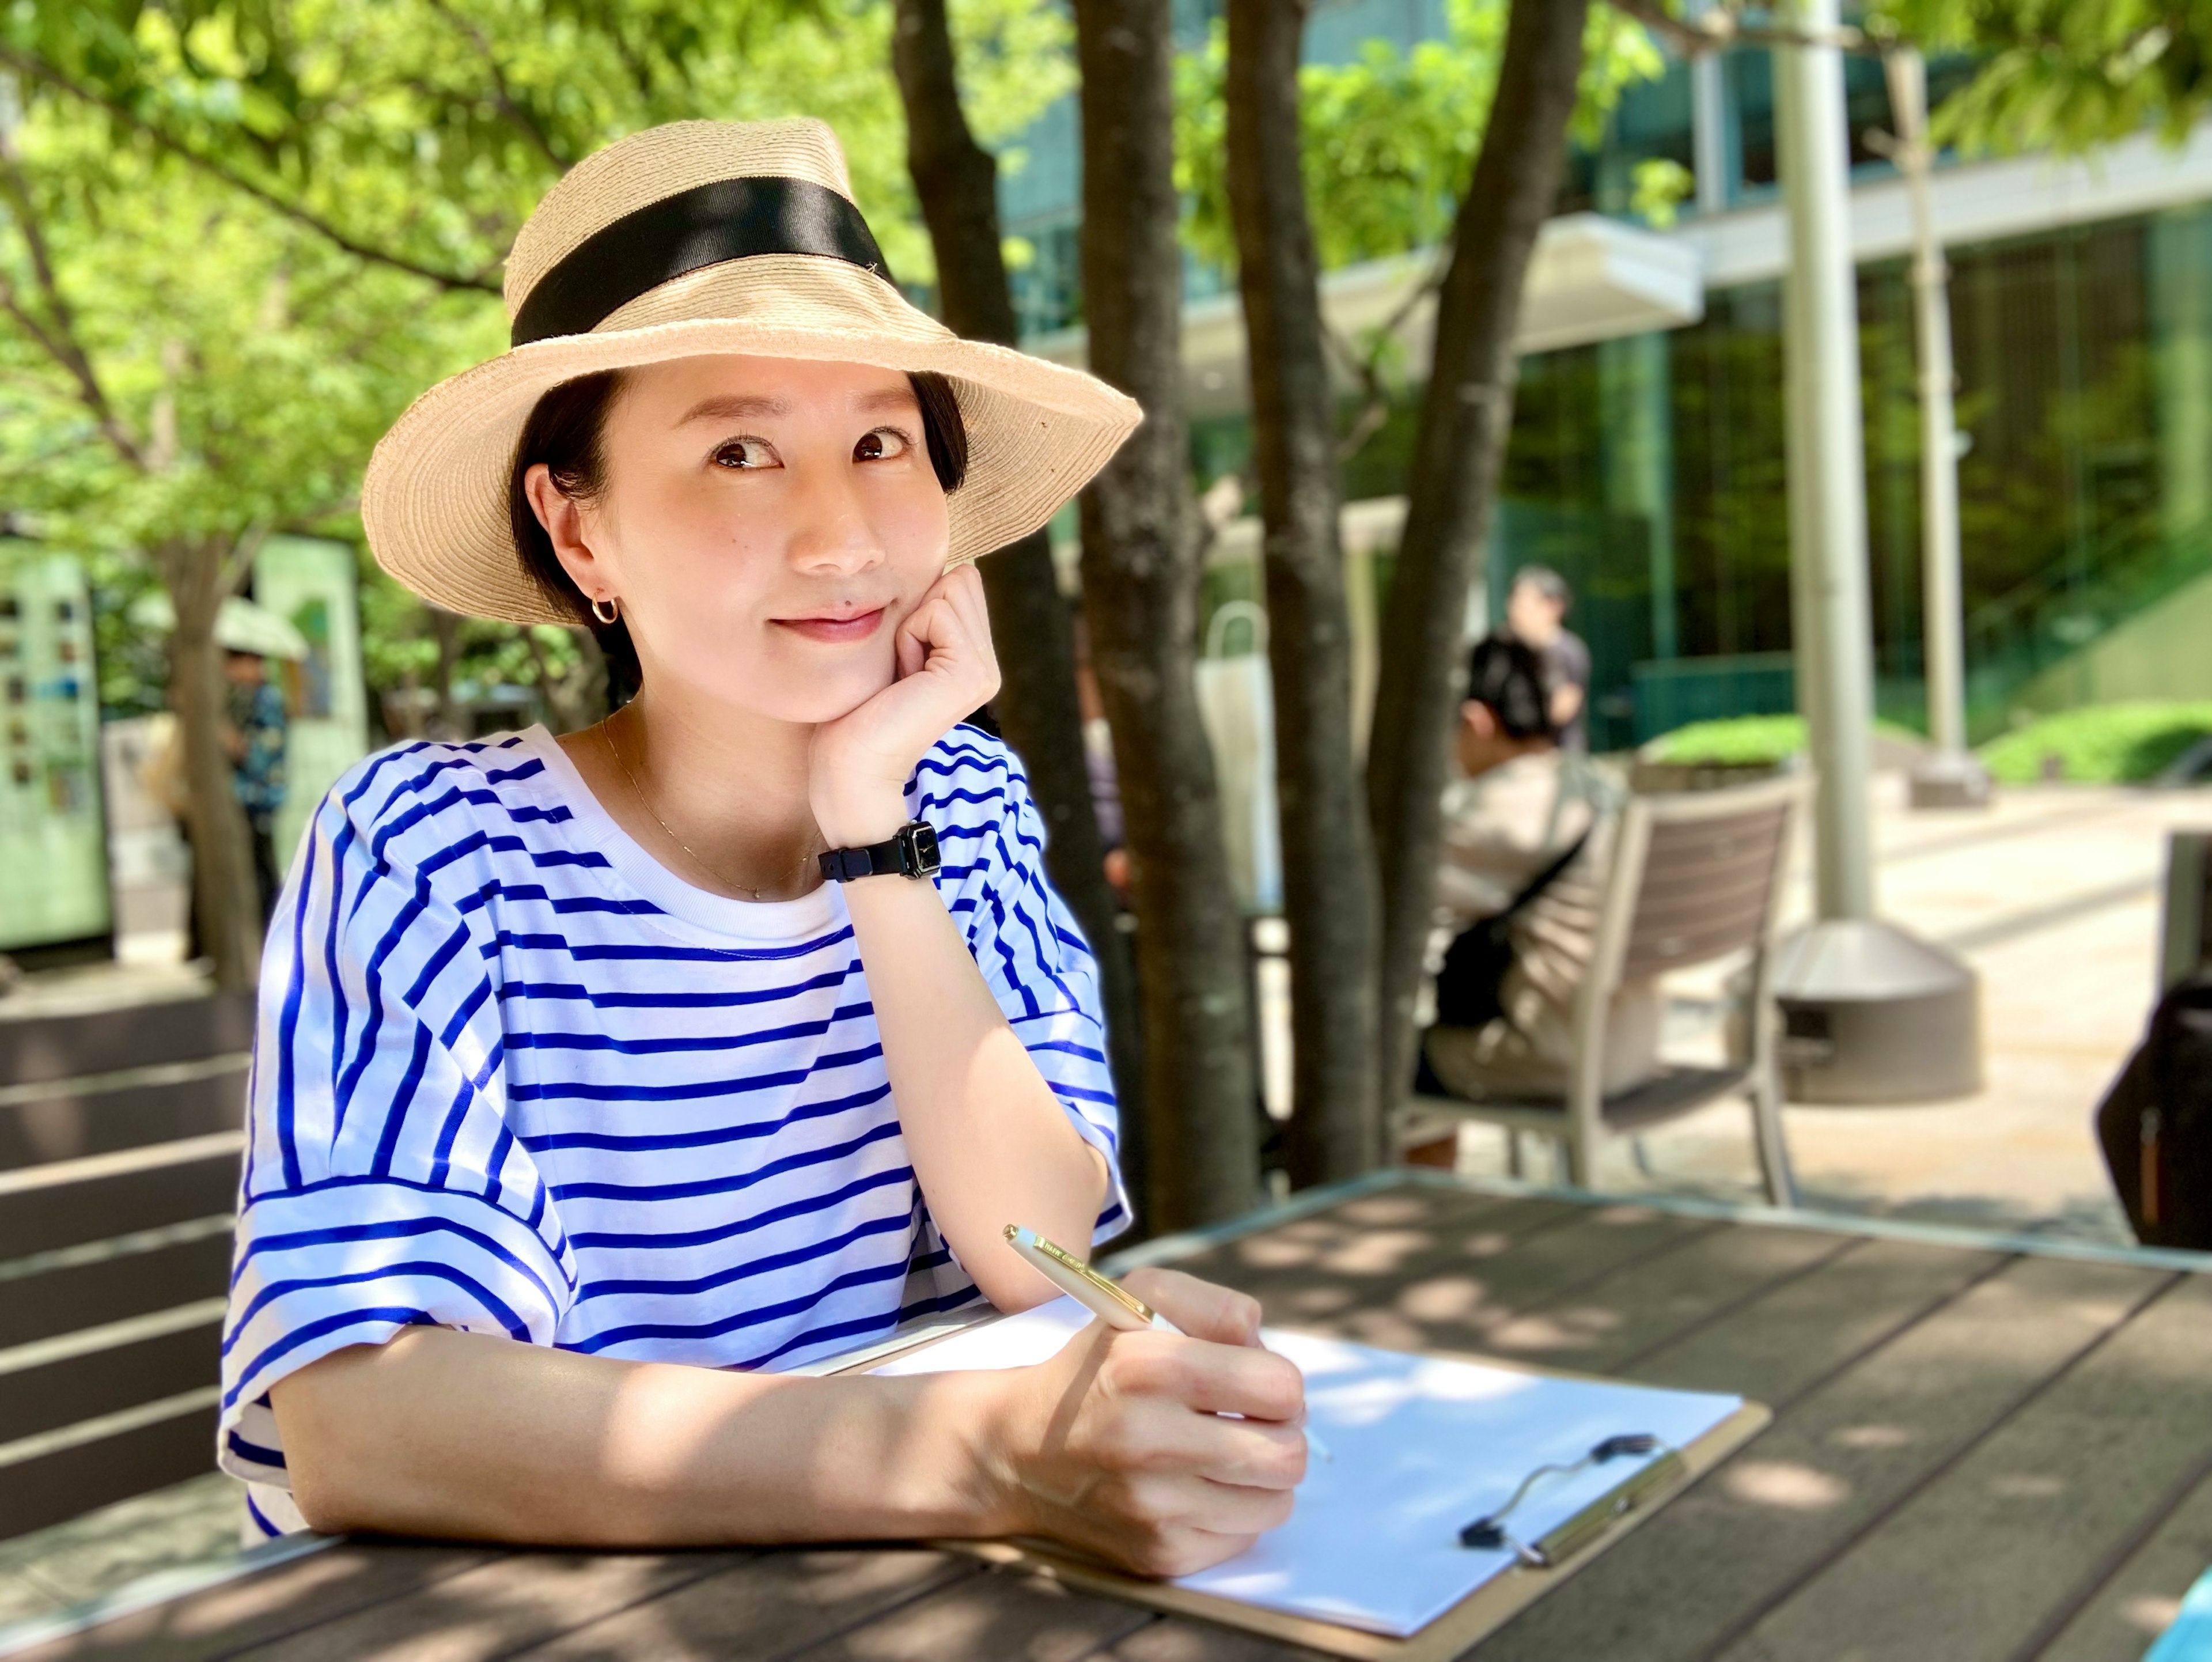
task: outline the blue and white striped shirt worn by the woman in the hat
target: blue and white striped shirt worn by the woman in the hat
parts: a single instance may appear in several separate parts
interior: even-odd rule
[[[1020,766],[953,728],[907,783],[936,885],[1075,1129],[1115,1155],[1091,952]],[[1097,1237],[1128,1222],[1119,1186]],[[261,967],[221,1465],[303,1527],[272,1383],[416,1323],[792,1368],[982,1295],[914,1180],[843,892],[655,863],[544,728],[341,779]]]

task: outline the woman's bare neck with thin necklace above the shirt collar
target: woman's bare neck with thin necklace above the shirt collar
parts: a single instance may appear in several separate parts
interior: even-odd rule
[[[562,748],[633,841],[686,883],[790,901],[821,883],[807,797],[814,728],[650,684]]]

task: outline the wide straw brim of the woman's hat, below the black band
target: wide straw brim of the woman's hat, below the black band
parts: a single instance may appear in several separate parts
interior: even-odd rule
[[[447,611],[575,622],[515,551],[509,489],[531,409],[577,376],[719,354],[947,376],[969,440],[967,478],[947,498],[953,562],[1040,529],[1141,420],[1137,401],[1104,381],[964,341],[856,266],[761,255],[664,283],[591,334],[533,341],[416,398],[376,445],[361,491],[378,564]]]

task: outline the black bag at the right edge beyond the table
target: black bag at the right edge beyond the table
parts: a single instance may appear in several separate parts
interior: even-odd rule
[[[2159,1000],[2097,1104],[2097,1140],[2143,1246],[2212,1250],[2212,974]]]

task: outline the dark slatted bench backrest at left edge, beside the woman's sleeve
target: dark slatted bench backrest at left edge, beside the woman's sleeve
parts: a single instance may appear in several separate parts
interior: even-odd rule
[[[0,1540],[215,1465],[252,1020],[0,1020]]]

